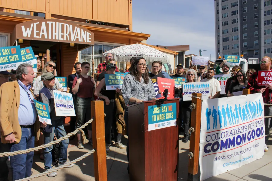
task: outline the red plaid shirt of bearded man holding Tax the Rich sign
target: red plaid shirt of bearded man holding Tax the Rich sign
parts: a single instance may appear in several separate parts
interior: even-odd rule
[[[270,71],[272,69],[270,68]],[[258,93],[261,88],[265,88],[265,86],[258,86],[257,85],[257,78],[258,78],[258,71],[254,72],[253,75],[248,80],[248,89],[250,89],[250,94]],[[272,90],[271,89],[265,89],[265,91],[262,93],[264,103],[271,104],[272,103]]]

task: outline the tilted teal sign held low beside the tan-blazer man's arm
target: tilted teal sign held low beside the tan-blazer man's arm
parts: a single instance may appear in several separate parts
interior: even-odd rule
[[[45,103],[41,103],[37,100],[34,100],[34,104],[37,110],[37,114],[39,116],[40,122],[46,122],[48,125],[51,125],[50,113],[48,109],[48,105]]]

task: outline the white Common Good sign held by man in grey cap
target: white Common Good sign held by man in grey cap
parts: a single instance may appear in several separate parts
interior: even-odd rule
[[[53,90],[56,116],[76,116],[72,94]]]

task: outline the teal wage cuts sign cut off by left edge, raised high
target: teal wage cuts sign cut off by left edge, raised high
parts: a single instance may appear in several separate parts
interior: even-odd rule
[[[23,63],[20,46],[0,48],[0,71],[16,70]]]

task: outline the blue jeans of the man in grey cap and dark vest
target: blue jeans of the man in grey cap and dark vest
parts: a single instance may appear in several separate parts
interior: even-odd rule
[[[59,120],[51,120],[52,121],[52,133],[44,133],[44,144],[50,143],[54,139],[54,133],[59,139],[60,137],[66,136],[66,132],[64,130],[63,118]],[[62,165],[67,161],[67,148],[69,145],[69,140],[63,140],[60,142],[60,160],[59,164]],[[52,151],[53,145],[44,149],[44,169],[52,168]]]

